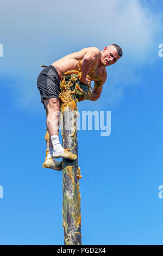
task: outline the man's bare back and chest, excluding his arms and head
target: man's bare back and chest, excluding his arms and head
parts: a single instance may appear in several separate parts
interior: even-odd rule
[[[79,68],[78,68],[79,60],[83,59],[85,53],[89,49],[91,49],[91,47],[84,48],[79,52],[74,52],[74,53],[68,54],[65,57],[52,63],[54,68],[57,69],[59,76],[61,77],[68,70],[79,71]],[[103,74],[105,71],[104,69],[105,69],[104,66],[98,65],[98,61],[93,63],[89,70],[89,76],[91,77],[91,80],[92,81],[103,80]]]

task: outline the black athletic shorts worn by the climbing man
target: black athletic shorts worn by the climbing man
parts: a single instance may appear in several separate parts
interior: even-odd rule
[[[37,87],[40,91],[41,102],[47,98],[58,98],[60,90],[60,79],[57,70],[50,65],[44,68],[38,78]]]

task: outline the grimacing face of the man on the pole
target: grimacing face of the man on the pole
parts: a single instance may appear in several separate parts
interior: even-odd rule
[[[120,58],[121,57],[118,55],[116,47],[114,45],[110,45],[108,47],[105,47],[102,51],[101,63],[104,66],[110,66],[116,63],[116,61]]]

